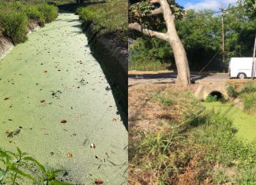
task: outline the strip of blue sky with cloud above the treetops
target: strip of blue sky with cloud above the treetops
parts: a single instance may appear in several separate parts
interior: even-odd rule
[[[235,4],[237,0],[176,0],[176,2],[185,9],[218,10],[220,6],[228,7],[229,4]]]

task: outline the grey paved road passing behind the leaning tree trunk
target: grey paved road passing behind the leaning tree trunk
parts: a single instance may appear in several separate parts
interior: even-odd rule
[[[129,85],[137,83],[175,83],[177,74],[175,72],[161,72],[160,74],[129,74]],[[228,80],[228,74],[191,73],[191,80],[195,83],[204,83],[209,81],[224,82]]]

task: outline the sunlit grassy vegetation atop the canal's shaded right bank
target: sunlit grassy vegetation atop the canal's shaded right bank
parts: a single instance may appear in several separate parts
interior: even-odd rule
[[[93,23],[94,32],[115,34],[122,44],[127,43],[127,9],[128,2],[124,0],[99,1],[77,9],[77,13],[85,24]]]

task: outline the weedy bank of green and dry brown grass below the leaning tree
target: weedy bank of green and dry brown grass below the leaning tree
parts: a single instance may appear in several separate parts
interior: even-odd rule
[[[130,183],[256,183],[256,146],[239,140],[225,115],[206,110],[187,92],[160,89],[148,95],[147,105],[162,107],[154,110],[158,117],[171,115],[145,131],[137,130],[143,120],[130,120],[137,122],[130,128]]]

